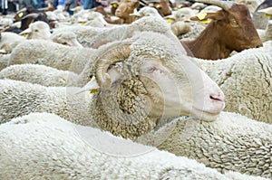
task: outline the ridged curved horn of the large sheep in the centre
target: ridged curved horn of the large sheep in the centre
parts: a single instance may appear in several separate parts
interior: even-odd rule
[[[114,62],[121,62],[127,59],[131,54],[131,44],[121,43],[110,50],[104,52],[99,61],[96,62],[96,81],[102,89],[109,89],[112,85],[111,77],[107,73],[110,65]]]

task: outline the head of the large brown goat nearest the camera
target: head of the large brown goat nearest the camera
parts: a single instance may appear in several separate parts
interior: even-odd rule
[[[229,50],[241,52],[248,48],[262,46],[246,5],[218,0],[199,0],[199,2],[218,5],[222,8],[216,13],[207,13],[203,19],[212,19],[209,25],[216,25],[219,43]],[[196,17],[191,19],[194,20]]]

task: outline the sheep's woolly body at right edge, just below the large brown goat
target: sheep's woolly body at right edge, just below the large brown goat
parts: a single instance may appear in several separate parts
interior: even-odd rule
[[[272,123],[271,59],[271,48],[263,47],[215,62],[190,60],[219,84],[226,96],[225,110]]]

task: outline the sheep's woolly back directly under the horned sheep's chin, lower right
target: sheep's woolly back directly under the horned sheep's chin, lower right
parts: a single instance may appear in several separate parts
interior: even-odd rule
[[[271,120],[270,116],[270,120]],[[219,172],[272,178],[272,125],[221,112],[212,122],[177,118],[137,142],[187,156]]]

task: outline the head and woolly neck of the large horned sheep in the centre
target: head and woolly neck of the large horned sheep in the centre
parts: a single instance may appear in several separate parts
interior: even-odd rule
[[[144,32],[105,46],[92,70],[96,79],[87,85],[99,87],[91,106],[101,128],[139,137],[162,120],[189,115],[214,120],[224,108],[218,85],[167,36]]]

